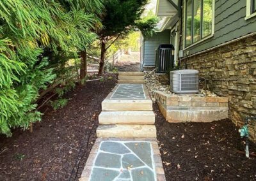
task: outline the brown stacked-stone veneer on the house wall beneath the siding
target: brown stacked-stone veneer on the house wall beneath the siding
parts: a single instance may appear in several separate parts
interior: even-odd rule
[[[181,64],[200,71],[212,92],[229,98],[228,117],[236,126],[256,115],[256,35],[191,55]],[[256,122],[250,122],[249,131],[256,141]]]

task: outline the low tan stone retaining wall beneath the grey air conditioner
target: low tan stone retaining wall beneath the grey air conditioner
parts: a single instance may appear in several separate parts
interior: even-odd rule
[[[170,95],[156,91],[155,98],[168,122],[212,122],[227,119],[228,98]]]

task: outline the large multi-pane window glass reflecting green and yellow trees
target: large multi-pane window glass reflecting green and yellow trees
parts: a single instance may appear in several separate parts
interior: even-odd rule
[[[186,47],[212,34],[212,1],[213,0],[186,1]]]

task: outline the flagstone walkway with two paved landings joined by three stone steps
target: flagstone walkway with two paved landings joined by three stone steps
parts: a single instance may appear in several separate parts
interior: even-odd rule
[[[121,117],[121,120],[116,117]],[[116,85],[102,102],[98,139],[80,180],[165,180],[154,117],[145,85]]]

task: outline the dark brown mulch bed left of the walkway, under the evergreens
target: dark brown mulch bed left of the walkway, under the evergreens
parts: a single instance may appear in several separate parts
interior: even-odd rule
[[[0,180],[78,180],[95,141],[101,102],[115,84],[107,75],[104,82],[78,86],[66,95],[64,108],[33,125],[33,133],[1,135]]]

